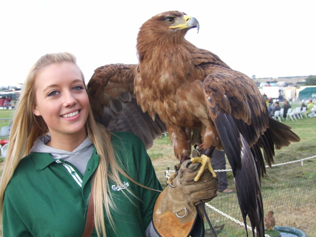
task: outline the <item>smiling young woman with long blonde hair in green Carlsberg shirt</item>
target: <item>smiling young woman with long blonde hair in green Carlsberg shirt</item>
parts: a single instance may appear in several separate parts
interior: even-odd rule
[[[4,237],[81,236],[91,190],[92,236],[145,235],[161,185],[138,137],[95,122],[72,54],[34,64],[9,141],[0,183]]]

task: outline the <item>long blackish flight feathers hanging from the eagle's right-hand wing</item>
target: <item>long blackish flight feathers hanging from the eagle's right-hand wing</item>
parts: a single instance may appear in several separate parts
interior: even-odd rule
[[[263,204],[260,192],[260,176],[258,175],[263,160],[261,162],[255,161],[252,152],[254,148],[249,147],[234,120],[231,115],[219,112],[214,124],[229,164],[233,169],[244,223],[246,225],[246,216],[248,216],[252,229],[257,227],[257,235],[264,236],[264,228],[262,228],[264,226]]]

